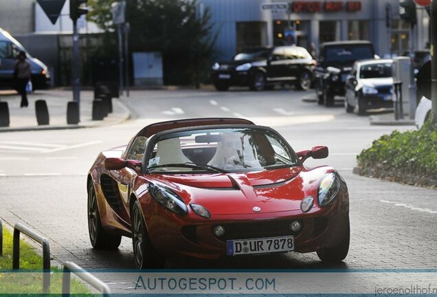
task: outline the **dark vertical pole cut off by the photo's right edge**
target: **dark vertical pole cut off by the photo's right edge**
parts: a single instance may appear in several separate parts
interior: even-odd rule
[[[437,0],[431,0],[431,101],[434,122],[437,123]]]

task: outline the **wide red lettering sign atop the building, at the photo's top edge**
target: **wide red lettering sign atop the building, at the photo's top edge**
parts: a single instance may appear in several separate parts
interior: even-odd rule
[[[291,11],[293,12],[342,12],[344,10],[347,12],[361,11],[361,2],[346,1],[346,3],[344,3],[343,1],[293,1],[291,3]]]

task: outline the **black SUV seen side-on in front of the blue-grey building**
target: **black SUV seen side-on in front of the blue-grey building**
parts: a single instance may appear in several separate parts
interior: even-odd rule
[[[254,91],[293,83],[307,90],[313,82],[315,61],[303,47],[258,47],[240,52],[232,61],[214,63],[212,83],[218,91],[249,86]]]

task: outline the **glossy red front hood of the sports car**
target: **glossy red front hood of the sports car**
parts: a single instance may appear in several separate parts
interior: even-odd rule
[[[294,167],[219,175],[157,175],[154,179],[186,204],[200,204],[212,215],[254,214],[256,206],[262,213],[299,210],[305,197],[317,199],[319,181],[330,170],[333,168],[327,166],[313,170]]]

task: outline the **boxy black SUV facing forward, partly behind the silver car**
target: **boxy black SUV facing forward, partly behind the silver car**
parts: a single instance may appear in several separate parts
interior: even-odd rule
[[[319,104],[334,104],[334,96],[344,96],[346,77],[357,60],[375,58],[369,41],[323,43],[315,69],[315,91]]]

